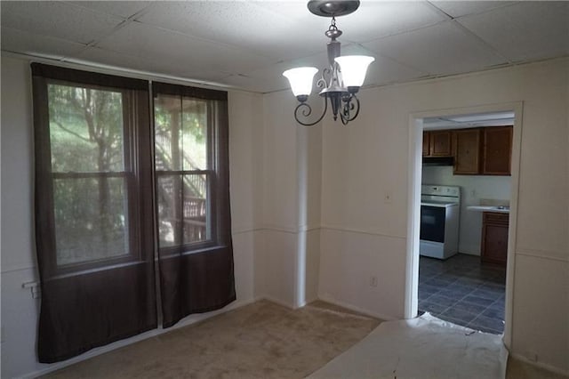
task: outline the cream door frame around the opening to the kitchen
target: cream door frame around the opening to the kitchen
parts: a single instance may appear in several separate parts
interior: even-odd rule
[[[523,125],[523,101],[485,104],[453,109],[432,109],[409,114],[409,157],[407,191],[407,251],[405,262],[405,319],[417,316],[419,290],[419,236],[421,213],[421,174],[422,174],[422,132],[423,118],[452,117],[489,112],[514,112],[512,137],[511,189],[509,200],[508,264],[506,268],[506,302],[503,342],[511,346],[514,303],[514,284],[517,242],[517,202],[519,195],[519,173]]]

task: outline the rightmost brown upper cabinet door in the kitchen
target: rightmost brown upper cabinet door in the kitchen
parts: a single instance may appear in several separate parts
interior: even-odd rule
[[[483,174],[509,175],[511,173],[512,130],[511,126],[484,128]]]

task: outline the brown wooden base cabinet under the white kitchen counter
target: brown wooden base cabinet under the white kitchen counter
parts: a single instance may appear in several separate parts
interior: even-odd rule
[[[509,214],[485,212],[482,216],[482,262],[503,266],[508,262]]]

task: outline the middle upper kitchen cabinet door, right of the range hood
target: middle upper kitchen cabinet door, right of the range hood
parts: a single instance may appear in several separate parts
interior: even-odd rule
[[[480,173],[480,129],[459,129],[453,131],[454,173]]]

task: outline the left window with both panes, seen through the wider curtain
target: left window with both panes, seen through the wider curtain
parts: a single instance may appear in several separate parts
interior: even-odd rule
[[[132,255],[128,93],[48,82],[56,265]]]

